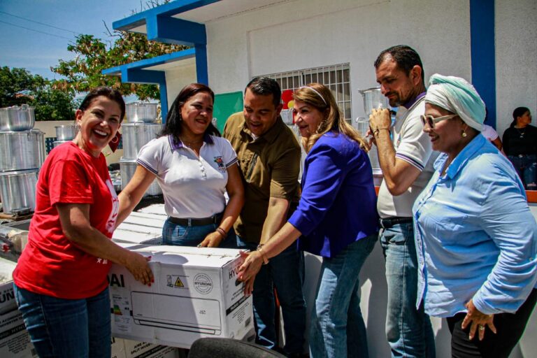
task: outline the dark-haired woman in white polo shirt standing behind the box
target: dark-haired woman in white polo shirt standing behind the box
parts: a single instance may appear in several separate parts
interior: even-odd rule
[[[211,123],[214,99],[213,91],[200,83],[181,90],[161,136],[138,153],[136,172],[120,193],[117,224],[156,177],[168,215],[164,245],[227,246],[224,239],[241,212],[244,190],[236,153]]]

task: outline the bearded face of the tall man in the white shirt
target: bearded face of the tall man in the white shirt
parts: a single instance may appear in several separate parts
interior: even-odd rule
[[[387,57],[375,69],[380,92],[392,107],[402,106],[412,100],[421,90],[421,69],[414,66],[408,75],[397,66],[392,57]]]

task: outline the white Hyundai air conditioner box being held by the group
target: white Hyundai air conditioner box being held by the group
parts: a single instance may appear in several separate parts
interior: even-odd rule
[[[113,336],[189,348],[201,337],[251,334],[252,298],[237,281],[238,250],[120,245],[152,257],[155,282],[142,285],[123,266],[112,266]]]

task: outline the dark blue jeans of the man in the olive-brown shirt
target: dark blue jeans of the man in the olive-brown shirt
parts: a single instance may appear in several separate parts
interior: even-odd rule
[[[257,244],[245,242],[236,236],[238,248],[256,250]],[[252,301],[254,304],[255,343],[273,349],[276,344],[274,287],[282,308],[287,354],[303,352],[306,331],[306,301],[302,293],[304,281],[304,253],[292,243],[280,255],[261,266],[255,276]]]

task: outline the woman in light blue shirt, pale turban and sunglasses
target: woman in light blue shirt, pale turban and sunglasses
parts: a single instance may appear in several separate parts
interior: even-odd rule
[[[441,155],[413,207],[416,304],[447,318],[452,357],[508,357],[537,299],[537,224],[484,119],[466,80],[431,76],[422,120]]]

